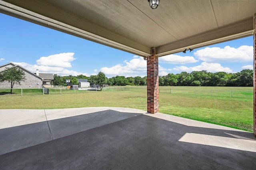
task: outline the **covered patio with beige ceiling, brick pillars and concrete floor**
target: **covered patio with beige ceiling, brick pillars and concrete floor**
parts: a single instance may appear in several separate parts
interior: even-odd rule
[[[1,169],[255,169],[256,1],[0,0],[0,12],[144,57],[148,82],[146,113],[4,110]],[[158,57],[252,35],[254,133],[158,113]]]

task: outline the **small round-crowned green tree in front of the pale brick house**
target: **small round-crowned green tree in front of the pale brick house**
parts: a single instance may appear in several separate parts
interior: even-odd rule
[[[0,73],[0,82],[8,81],[11,83],[11,94],[14,84],[19,84],[25,80],[25,73],[18,67],[10,67]]]

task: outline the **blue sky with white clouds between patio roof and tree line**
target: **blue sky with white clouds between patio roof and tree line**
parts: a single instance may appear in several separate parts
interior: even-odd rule
[[[146,61],[118,49],[90,42],[0,13],[0,65],[12,62],[32,72],[106,77],[146,76]],[[187,71],[240,72],[253,69],[253,36],[159,58],[159,75]]]

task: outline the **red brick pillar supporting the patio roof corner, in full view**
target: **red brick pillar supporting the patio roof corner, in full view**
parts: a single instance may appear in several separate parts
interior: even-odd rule
[[[148,113],[159,112],[158,56],[147,57],[147,106]]]

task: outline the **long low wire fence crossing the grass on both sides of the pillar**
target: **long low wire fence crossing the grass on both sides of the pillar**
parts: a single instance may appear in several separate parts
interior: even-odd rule
[[[9,94],[11,89],[0,89],[0,95]],[[97,93],[107,91],[135,91],[147,92],[147,88],[143,87],[107,87],[107,88],[36,88],[36,89],[12,89],[12,93],[16,95],[54,95],[54,94],[70,94],[70,93]],[[159,93],[182,94],[182,95],[208,95],[219,97],[242,97],[253,98],[253,91],[238,90],[206,90],[206,89],[166,89],[159,88]]]

